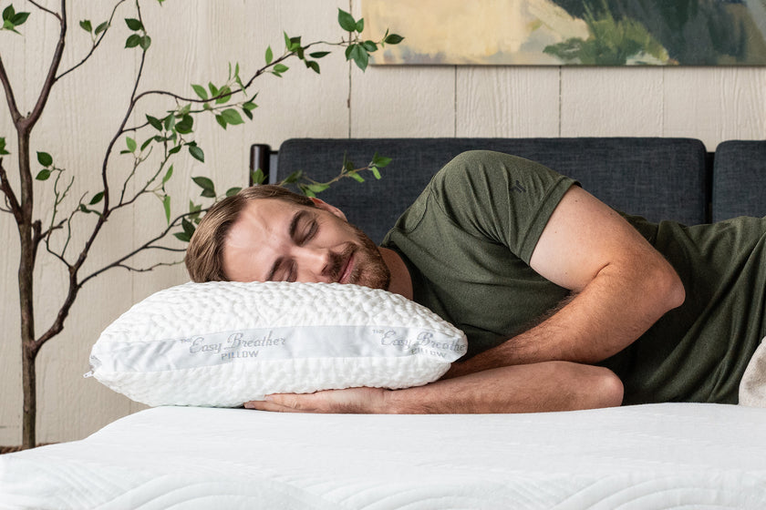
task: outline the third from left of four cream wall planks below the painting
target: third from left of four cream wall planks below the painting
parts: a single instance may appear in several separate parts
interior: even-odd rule
[[[563,67],[562,137],[647,137],[662,132],[662,69]]]

